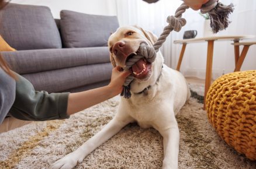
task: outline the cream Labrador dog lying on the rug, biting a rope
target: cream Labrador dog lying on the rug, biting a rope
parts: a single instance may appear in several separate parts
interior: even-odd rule
[[[119,27],[109,37],[110,61],[125,68],[126,61],[137,54],[141,43],[153,47],[157,37],[137,26]],[[164,65],[161,52],[153,63],[142,58],[130,68],[134,80],[130,84],[132,96],[121,97],[115,117],[91,139],[74,152],[54,163],[51,168],[73,168],[96,147],[116,135],[124,126],[137,122],[141,128],[153,127],[163,137],[162,168],[178,168],[179,129],[175,119],[190,97],[184,76]]]

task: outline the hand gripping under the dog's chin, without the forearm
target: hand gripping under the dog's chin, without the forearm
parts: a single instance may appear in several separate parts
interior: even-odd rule
[[[113,91],[113,94],[116,96],[117,94],[121,93],[123,90],[123,83],[127,76],[131,74],[130,71],[122,71],[120,66],[116,66],[112,69],[112,76],[111,81],[109,83],[110,90]]]

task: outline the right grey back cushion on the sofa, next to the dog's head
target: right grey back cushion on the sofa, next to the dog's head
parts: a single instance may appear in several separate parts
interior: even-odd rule
[[[61,37],[64,47],[102,47],[119,27],[116,16],[88,15],[61,10]]]

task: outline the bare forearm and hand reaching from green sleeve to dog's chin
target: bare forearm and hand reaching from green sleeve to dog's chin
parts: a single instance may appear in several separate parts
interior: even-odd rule
[[[119,71],[120,67],[113,68],[111,82],[108,86],[78,93],[70,93],[68,97],[67,114],[74,114],[75,112],[79,112],[85,108],[91,107],[92,105],[101,103],[102,101],[120,94],[123,89],[122,85],[124,80],[130,75],[130,72]]]

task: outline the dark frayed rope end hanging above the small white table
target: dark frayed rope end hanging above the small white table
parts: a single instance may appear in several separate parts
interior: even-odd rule
[[[210,27],[212,27],[213,33],[217,33],[220,30],[224,30],[229,26],[229,14],[234,11],[234,5],[231,3],[229,6],[223,5],[218,2],[215,8],[210,10]]]

